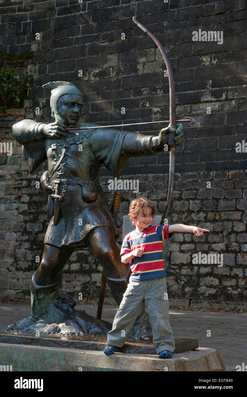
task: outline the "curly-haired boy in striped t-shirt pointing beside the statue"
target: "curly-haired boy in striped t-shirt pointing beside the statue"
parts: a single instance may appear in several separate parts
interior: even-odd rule
[[[112,330],[107,334],[107,346],[103,350],[106,355],[115,353],[117,347],[124,345],[144,300],[149,309],[153,345],[159,358],[171,358],[175,349],[169,323],[163,240],[172,237],[174,231],[202,236],[203,231],[209,230],[182,224],[152,226],[155,212],[155,205],[145,198],[137,198],[130,203],[128,215],[136,229],[124,237],[120,255],[123,263],[131,260],[132,274]]]

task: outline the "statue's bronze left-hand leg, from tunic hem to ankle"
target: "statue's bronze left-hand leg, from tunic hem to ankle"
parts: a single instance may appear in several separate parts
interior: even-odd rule
[[[33,275],[31,291],[31,320],[36,321],[45,314],[58,295],[61,286],[61,272],[73,253],[73,248],[61,249],[45,244],[42,261]]]

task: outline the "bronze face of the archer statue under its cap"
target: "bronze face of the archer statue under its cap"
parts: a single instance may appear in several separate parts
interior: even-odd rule
[[[66,94],[57,101],[56,121],[66,125],[77,125],[83,106],[83,98],[76,94]]]

